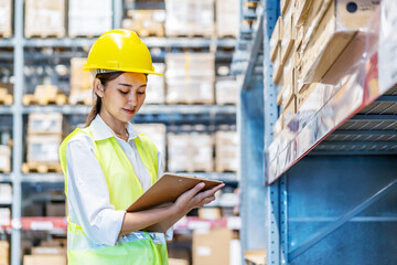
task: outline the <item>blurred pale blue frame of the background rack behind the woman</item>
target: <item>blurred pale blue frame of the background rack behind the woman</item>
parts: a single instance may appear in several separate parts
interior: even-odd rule
[[[129,8],[127,3],[121,0],[114,0],[112,25],[115,29],[121,28],[122,9]],[[163,4],[164,2],[162,2]],[[150,8],[150,7],[149,7]],[[163,7],[164,8],[164,7]],[[13,32],[14,34],[9,39],[0,39],[1,49],[11,49],[12,56],[7,60],[12,60],[14,83],[13,83],[13,104],[11,106],[0,106],[0,115],[12,116],[12,171],[11,173],[1,173],[0,182],[12,184],[12,221],[11,225],[7,227],[11,235],[11,264],[21,264],[21,241],[23,230],[39,230],[47,231],[49,233],[57,233],[60,229],[57,225],[65,224],[64,219],[46,219],[40,220],[22,216],[22,186],[30,183],[47,183],[60,184],[63,183],[64,177],[60,173],[21,173],[21,165],[23,161],[23,119],[25,115],[31,113],[60,113],[63,115],[81,115],[85,116],[89,113],[89,107],[83,105],[64,105],[64,106],[23,106],[22,97],[24,93],[24,62],[30,49],[55,49],[65,47],[71,50],[83,50],[87,53],[89,46],[95,42],[96,38],[61,38],[61,39],[25,39],[23,36],[23,13],[24,1],[15,0],[13,6]],[[211,51],[215,52],[215,62],[221,64],[229,64],[232,61],[233,50],[236,45],[236,40],[233,38],[143,38],[143,42],[153,53],[154,62],[163,62],[164,55],[168,52],[185,52],[185,51]],[[2,53],[1,56],[6,56]],[[11,52],[10,52],[11,54]],[[236,123],[236,107],[235,106],[215,106],[215,105],[144,105],[137,116],[138,123],[168,123],[168,124],[235,124]],[[208,172],[195,173],[196,176],[206,177],[210,179],[223,180],[232,186],[237,186],[238,179],[236,173],[217,173]],[[197,220],[192,220],[193,224]],[[32,222],[34,227],[32,227]],[[39,222],[39,223],[37,223]],[[215,226],[227,225],[227,220],[222,221],[222,224],[215,223]],[[29,223],[29,225],[26,225]],[[25,226],[23,226],[25,224]],[[42,225],[42,226],[41,226]],[[45,225],[47,225],[45,229]],[[208,225],[208,224],[206,224]],[[212,224],[210,224],[211,226]],[[50,227],[50,229],[49,229]],[[189,229],[189,222],[183,224],[181,229]],[[190,229],[194,229],[193,226]],[[64,233],[64,226],[62,226]]]

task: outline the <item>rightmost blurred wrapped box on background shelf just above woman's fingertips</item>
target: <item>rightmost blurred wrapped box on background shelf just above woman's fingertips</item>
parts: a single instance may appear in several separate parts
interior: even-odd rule
[[[216,131],[216,171],[237,171],[238,134],[236,131]]]

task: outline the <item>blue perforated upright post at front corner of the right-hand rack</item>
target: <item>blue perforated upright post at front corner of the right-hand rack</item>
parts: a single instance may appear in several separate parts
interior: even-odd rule
[[[264,103],[265,103],[265,152],[264,183],[267,183],[267,150],[273,139],[272,127],[277,121],[277,88],[272,82],[272,64],[270,62],[270,38],[279,15],[280,1],[266,0],[264,14]],[[287,263],[287,177],[279,182],[266,187],[266,243],[267,264]]]

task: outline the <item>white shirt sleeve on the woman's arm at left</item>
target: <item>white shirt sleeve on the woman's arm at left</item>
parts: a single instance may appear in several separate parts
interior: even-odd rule
[[[76,139],[75,139],[76,138]],[[66,149],[67,203],[71,221],[97,244],[116,245],[126,211],[109,200],[104,171],[89,136],[77,135]]]

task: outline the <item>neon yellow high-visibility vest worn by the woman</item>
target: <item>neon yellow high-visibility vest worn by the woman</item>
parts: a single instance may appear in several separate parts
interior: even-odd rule
[[[90,136],[95,157],[99,161],[109,189],[110,203],[116,210],[126,210],[142,194],[142,187],[132,166],[115,137],[95,141],[90,127],[76,129],[60,147],[61,167],[65,174],[67,197],[66,149],[78,132]],[[144,135],[135,139],[139,156],[148,168],[152,183],[158,174],[158,156],[154,144]],[[84,233],[82,226],[67,218],[67,261],[69,265],[163,265],[168,264],[167,242],[163,233],[137,231],[119,236],[116,246],[97,244]]]

